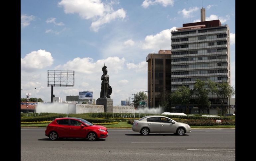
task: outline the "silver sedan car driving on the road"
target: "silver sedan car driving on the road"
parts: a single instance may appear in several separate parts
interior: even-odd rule
[[[140,132],[142,135],[148,135],[149,133],[184,135],[191,132],[191,127],[186,123],[176,122],[165,116],[145,116],[133,122],[132,130]]]

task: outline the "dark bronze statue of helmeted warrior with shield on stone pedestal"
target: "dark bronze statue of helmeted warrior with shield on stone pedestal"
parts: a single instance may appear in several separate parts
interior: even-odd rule
[[[108,70],[106,66],[102,67],[103,74],[101,76],[101,91],[100,98],[110,98],[112,93],[112,88],[109,85],[109,75],[107,74]]]

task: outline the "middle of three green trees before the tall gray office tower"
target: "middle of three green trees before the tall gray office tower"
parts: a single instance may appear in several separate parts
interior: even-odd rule
[[[198,97],[198,104],[200,104],[203,108],[203,106],[210,107],[211,102],[209,101],[209,89],[206,89],[204,87],[205,82],[197,79],[194,84],[194,93]]]

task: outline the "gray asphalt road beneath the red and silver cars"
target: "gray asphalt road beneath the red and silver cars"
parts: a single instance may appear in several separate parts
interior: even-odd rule
[[[184,136],[149,134],[131,129],[109,129],[98,141],[61,139],[51,141],[46,128],[21,127],[21,161],[235,160],[235,129],[192,129]]]

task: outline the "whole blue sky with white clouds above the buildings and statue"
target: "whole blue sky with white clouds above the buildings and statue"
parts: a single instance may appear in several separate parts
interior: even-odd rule
[[[114,105],[147,91],[149,53],[171,49],[170,31],[200,21],[201,0],[22,0],[21,98],[51,101],[47,70],[74,70],[74,87],[54,87],[56,97],[79,91],[100,95],[104,63]],[[204,0],[206,21],[228,24],[231,85],[235,87],[235,1]]]

